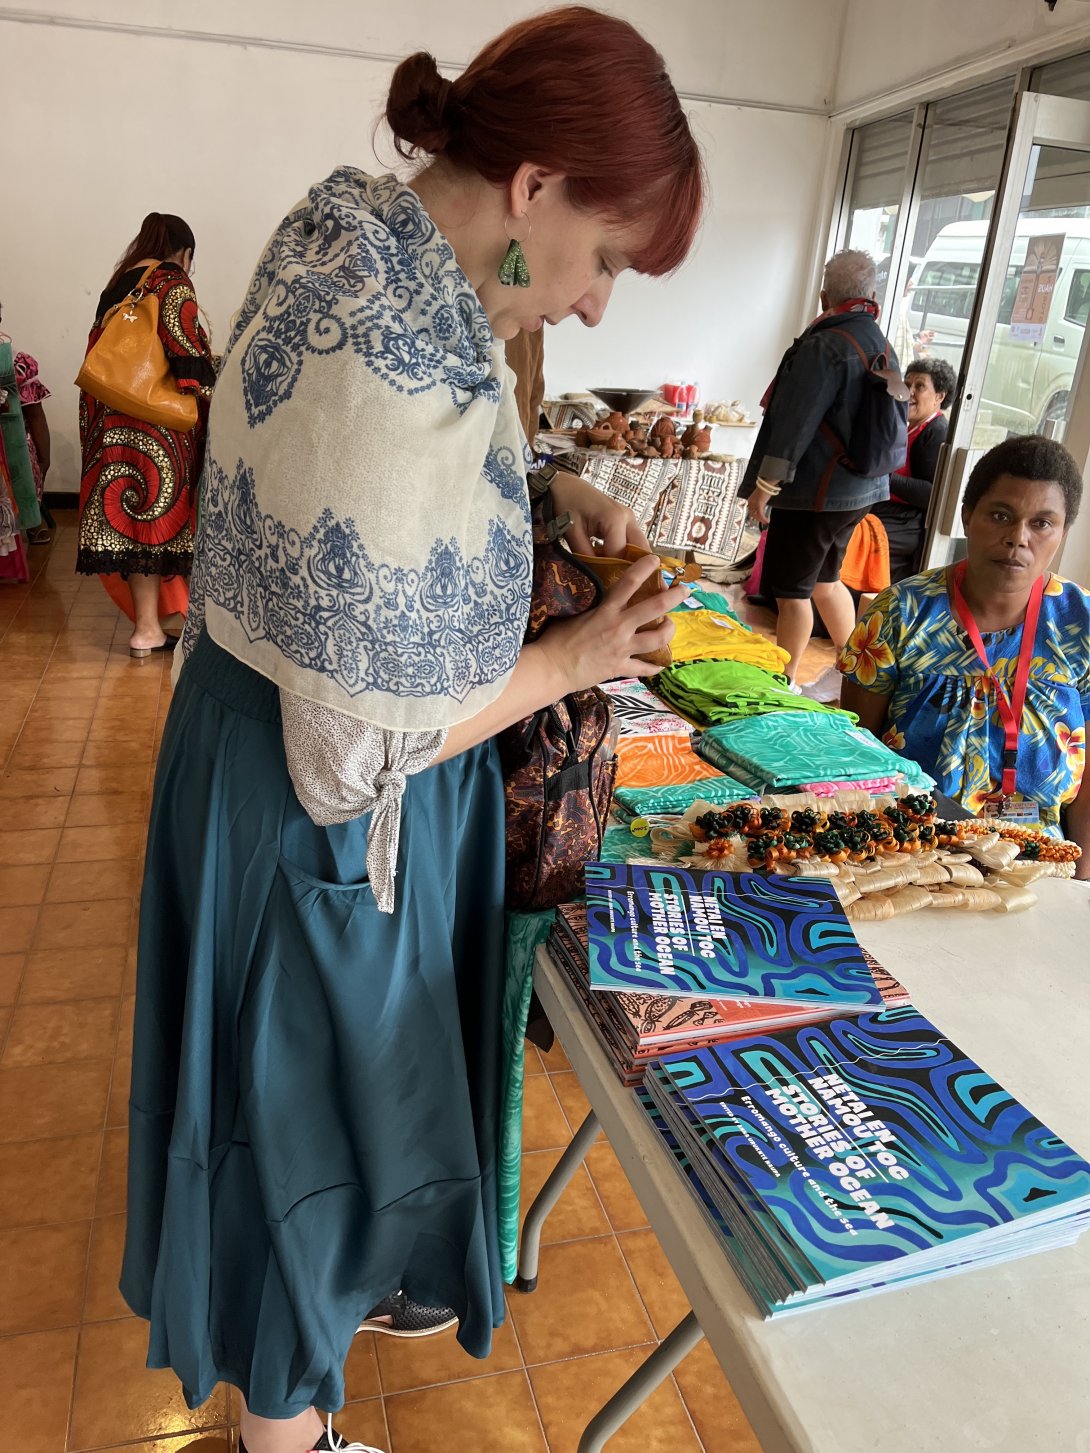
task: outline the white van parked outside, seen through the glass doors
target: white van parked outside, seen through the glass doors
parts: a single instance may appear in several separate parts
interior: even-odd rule
[[[908,304],[913,334],[932,331],[921,353],[961,369],[969,315],[980,285],[987,222],[943,227],[916,273]],[[1061,237],[1059,272],[1038,340],[1012,337],[1012,312],[1030,237]],[[1064,418],[1083,331],[1090,315],[1090,219],[1020,216],[1003,288],[996,340],[981,389],[981,410],[1012,433],[1035,433],[1051,418]],[[1017,328],[1014,333],[1017,334]],[[907,360],[901,368],[907,368]]]

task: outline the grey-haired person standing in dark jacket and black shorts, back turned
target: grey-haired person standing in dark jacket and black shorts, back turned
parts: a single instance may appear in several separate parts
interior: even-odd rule
[[[840,567],[856,525],[889,497],[888,475],[865,478],[844,464],[844,442],[863,411],[866,357],[897,359],[878,327],[875,262],[846,250],[825,263],[821,315],[788,349],[764,395],[764,421],[738,491],[767,523],[762,594],[775,596],[776,641],[795,681],[814,628],[811,600],[837,648],[855,628]]]

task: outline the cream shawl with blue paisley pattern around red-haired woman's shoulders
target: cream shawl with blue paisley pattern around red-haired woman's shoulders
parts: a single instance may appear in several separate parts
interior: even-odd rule
[[[395,177],[340,169],[273,234],[209,418],[187,645],[391,731],[501,692],[530,594],[503,344]]]

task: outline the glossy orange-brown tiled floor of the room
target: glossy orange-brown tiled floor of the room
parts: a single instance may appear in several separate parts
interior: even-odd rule
[[[73,574],[74,517],[0,587],[0,1408],[19,1453],[225,1453],[230,1389],[190,1412],[147,1372],[116,1290],[125,1225],[135,905],[169,661]],[[824,664],[824,661],[821,663]],[[555,1049],[528,1051],[525,1200],[586,1113]],[[359,1337],[339,1425],[391,1453],[574,1453],[605,1399],[683,1315],[682,1292],[602,1141],[554,1212],[541,1286],[512,1293],[485,1363],[453,1337]],[[609,1453],[751,1453],[699,1347]]]

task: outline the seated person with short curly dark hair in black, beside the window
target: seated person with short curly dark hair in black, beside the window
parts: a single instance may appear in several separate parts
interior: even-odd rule
[[[958,376],[946,359],[916,359],[904,375],[908,401],[908,450],[889,477],[889,498],[875,504],[889,539],[889,583],[916,575],[923,554],[924,523],[932,498],[939,452],[946,442],[943,408],[953,397]]]

